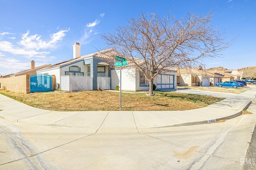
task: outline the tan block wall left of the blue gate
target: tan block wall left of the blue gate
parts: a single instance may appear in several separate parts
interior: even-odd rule
[[[30,93],[29,75],[0,78],[1,89],[18,93]]]

